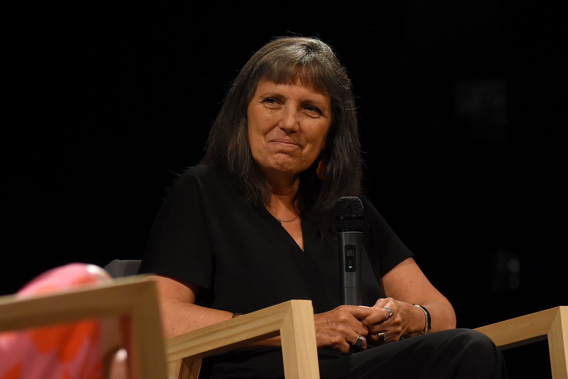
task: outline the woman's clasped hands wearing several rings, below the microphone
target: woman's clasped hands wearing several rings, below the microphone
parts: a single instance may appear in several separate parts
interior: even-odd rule
[[[383,307],[388,307],[392,316]],[[411,304],[385,298],[378,299],[372,307],[341,305],[315,314],[316,343],[318,347],[349,352],[358,336],[365,338],[361,343],[362,349],[367,348],[369,339],[372,345],[398,341],[408,334],[408,324],[414,316],[412,307]]]

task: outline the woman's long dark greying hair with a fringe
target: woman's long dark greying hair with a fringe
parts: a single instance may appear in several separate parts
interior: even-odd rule
[[[227,170],[257,207],[269,201],[268,184],[253,160],[248,141],[247,107],[261,80],[291,84],[298,72],[302,84],[329,94],[332,124],[325,151],[324,180],[316,175],[320,159],[300,173],[299,211],[302,219],[319,225],[323,238],[334,233],[334,209],[342,196],[361,192],[361,148],[355,102],[345,69],[329,45],[316,38],[282,37],[257,51],[229,89],[207,140],[207,152],[199,164]]]

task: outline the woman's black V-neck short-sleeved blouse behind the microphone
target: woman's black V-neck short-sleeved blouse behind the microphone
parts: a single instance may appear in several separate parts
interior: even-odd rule
[[[365,198],[364,305],[385,295],[381,276],[414,254]],[[310,299],[314,313],[341,305],[337,242],[302,220],[304,251],[264,208],[243,199],[214,166],[186,170],[158,214],[139,273],[201,286],[196,303],[249,313],[290,299]]]

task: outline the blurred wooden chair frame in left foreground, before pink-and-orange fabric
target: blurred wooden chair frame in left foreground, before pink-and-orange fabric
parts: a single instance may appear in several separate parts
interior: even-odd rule
[[[120,278],[26,298],[0,297],[0,332],[112,316],[130,318],[130,340],[118,341],[116,330],[103,328],[103,355],[126,345],[132,379],[166,379],[156,284],[150,278]]]

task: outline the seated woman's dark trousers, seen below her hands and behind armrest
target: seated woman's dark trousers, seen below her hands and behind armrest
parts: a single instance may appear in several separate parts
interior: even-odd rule
[[[322,379],[507,378],[502,353],[484,334],[452,329],[412,337],[354,354],[318,349]],[[213,363],[211,361],[211,363]],[[207,365],[212,378],[283,378],[282,351],[230,355]]]

